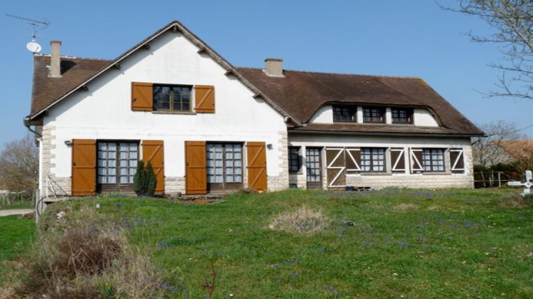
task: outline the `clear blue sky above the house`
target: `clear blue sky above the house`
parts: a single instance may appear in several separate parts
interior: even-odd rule
[[[496,88],[500,71],[488,64],[502,55],[462,33],[483,35],[488,25],[431,0],[7,3],[0,6],[0,147],[27,132],[22,119],[29,113],[33,68],[26,50],[31,26],[5,14],[50,21],[38,30],[41,53],[50,53],[50,40],[60,40],[63,55],[113,59],[178,19],[235,66],[260,68],[274,57],[291,70],[420,77],[475,123],[533,125],[533,101],[478,92]],[[523,132],[533,137],[533,127]]]

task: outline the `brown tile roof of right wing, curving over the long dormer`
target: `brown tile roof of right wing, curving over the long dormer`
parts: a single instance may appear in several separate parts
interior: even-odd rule
[[[237,71],[252,85],[262,90],[266,97],[303,123],[308,122],[316,110],[327,103],[426,107],[434,112],[441,125],[448,129],[447,134],[483,135],[478,127],[419,78],[311,73],[295,70],[284,70],[285,77],[279,78],[269,77],[259,68],[237,68]],[[372,128],[365,126],[363,129],[358,125],[337,125],[337,127],[350,132],[357,130],[368,132]],[[413,126],[401,128],[390,130],[416,132],[416,127]],[[376,130],[382,129],[376,128]]]

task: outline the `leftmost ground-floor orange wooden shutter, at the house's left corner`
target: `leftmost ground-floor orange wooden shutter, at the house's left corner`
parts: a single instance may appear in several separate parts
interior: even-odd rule
[[[72,196],[96,195],[96,140],[72,140]]]

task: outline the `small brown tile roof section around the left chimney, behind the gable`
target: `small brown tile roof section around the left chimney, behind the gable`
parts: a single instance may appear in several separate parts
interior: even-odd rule
[[[87,58],[61,57],[62,78],[48,78],[49,55],[33,56],[33,90],[31,115],[69,93],[111,61]]]

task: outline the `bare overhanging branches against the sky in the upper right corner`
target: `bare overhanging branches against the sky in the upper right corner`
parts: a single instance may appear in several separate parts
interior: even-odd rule
[[[533,1],[457,0],[458,6],[443,9],[477,16],[494,30],[490,36],[467,33],[472,41],[496,43],[507,63],[491,64],[502,70],[496,91],[490,96],[510,96],[533,100]]]

